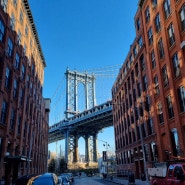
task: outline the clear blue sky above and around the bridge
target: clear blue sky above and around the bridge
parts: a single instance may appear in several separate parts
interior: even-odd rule
[[[103,77],[96,79],[97,104],[111,99],[116,75],[135,39],[138,0],[29,0],[29,4],[47,65],[43,96],[51,98],[50,125],[64,118],[67,67],[101,73]],[[102,141],[113,151],[113,127],[104,129],[98,140],[99,153],[105,150]],[[65,148],[60,141],[49,144],[49,150],[55,152],[60,145]],[[84,153],[82,138],[79,147]]]

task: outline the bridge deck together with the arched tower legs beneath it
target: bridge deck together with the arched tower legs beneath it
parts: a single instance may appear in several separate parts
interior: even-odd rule
[[[97,161],[97,134],[113,125],[112,101],[64,119],[49,128],[49,143],[65,139],[65,159],[78,162],[78,139],[85,139],[85,161]],[[90,148],[91,147],[91,148]],[[90,151],[93,157],[90,159]],[[91,155],[92,156],[92,155]]]

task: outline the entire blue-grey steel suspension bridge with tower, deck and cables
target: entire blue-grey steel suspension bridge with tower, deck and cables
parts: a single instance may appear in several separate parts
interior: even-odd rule
[[[113,116],[111,100],[96,105],[95,81],[97,76],[115,79],[117,75],[115,71],[118,72],[118,69],[118,66],[107,67],[104,71],[108,74],[105,75],[100,69],[97,69],[96,73],[88,74],[86,71],[77,72],[67,68],[65,72],[65,118],[49,127],[49,144],[65,140],[65,160],[67,163],[69,159],[71,162],[78,162],[78,140],[80,137],[85,140],[85,162],[97,162],[98,133],[113,125]],[[79,111],[82,104],[79,103],[80,84],[83,85],[84,91],[83,111]],[[109,91],[111,93],[111,89]],[[101,92],[104,93],[104,90],[102,89]]]

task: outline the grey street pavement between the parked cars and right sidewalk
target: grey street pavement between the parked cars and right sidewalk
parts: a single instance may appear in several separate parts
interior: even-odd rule
[[[102,178],[98,176],[94,177],[87,177],[87,176],[82,176],[81,178],[75,177],[74,179],[74,185],[115,185],[113,182],[109,182],[106,180],[103,180]]]

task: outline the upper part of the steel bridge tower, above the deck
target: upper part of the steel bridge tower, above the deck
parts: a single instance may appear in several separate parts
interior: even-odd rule
[[[66,111],[65,116],[78,113],[78,85],[82,83],[85,90],[85,109],[93,108],[95,100],[95,77],[87,73],[66,70]]]

